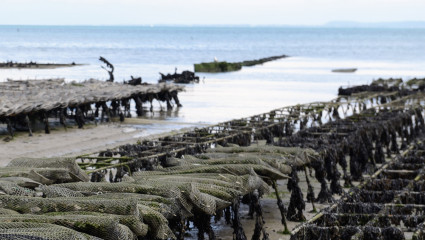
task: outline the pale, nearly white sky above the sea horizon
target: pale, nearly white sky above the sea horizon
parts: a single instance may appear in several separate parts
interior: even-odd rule
[[[322,25],[425,21],[425,0],[1,0],[0,25]]]

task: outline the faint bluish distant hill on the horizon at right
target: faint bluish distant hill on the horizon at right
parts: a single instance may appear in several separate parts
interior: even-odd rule
[[[333,21],[324,25],[325,27],[352,27],[352,28],[425,28],[424,21],[404,21],[404,22],[352,22]]]

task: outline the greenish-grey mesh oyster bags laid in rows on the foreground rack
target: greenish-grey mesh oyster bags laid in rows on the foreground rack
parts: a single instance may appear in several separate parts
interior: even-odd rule
[[[268,193],[269,180],[288,178],[291,163],[309,160],[298,150],[258,149],[169,158],[173,166],[115,183],[88,182],[70,158],[15,159],[0,169],[0,233],[10,239],[175,239],[171,221],[214,216],[244,195]]]

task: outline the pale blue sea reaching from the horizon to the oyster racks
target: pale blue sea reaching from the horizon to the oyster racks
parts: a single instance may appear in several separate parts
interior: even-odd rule
[[[299,103],[328,101],[340,86],[378,78],[425,77],[425,29],[276,26],[0,26],[0,62],[80,63],[58,69],[0,69],[7,79],[106,80],[103,56],[116,81],[142,77],[157,83],[159,72],[193,71],[200,62],[288,58],[229,73],[197,73],[179,95],[183,104],[144,118],[169,121],[168,128],[208,125]],[[334,73],[357,68],[355,73]],[[165,104],[162,104],[165,107]],[[178,124],[177,124],[178,123]],[[145,126],[146,127],[146,126]],[[149,133],[164,130],[152,125]]]

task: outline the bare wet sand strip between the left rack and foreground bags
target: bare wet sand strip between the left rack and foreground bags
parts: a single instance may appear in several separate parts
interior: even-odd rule
[[[137,124],[137,127],[133,124]],[[18,157],[78,156],[95,153],[123,144],[136,143],[137,140],[155,139],[187,131],[191,127],[194,125],[161,120],[128,119],[122,124],[112,122],[97,126],[85,125],[83,129],[73,126],[65,130],[58,126],[51,128],[50,134],[37,130],[32,137],[29,137],[27,132],[17,132],[15,138],[9,142],[4,141],[9,138],[8,135],[0,135],[2,139],[0,166],[5,166],[10,160]]]

